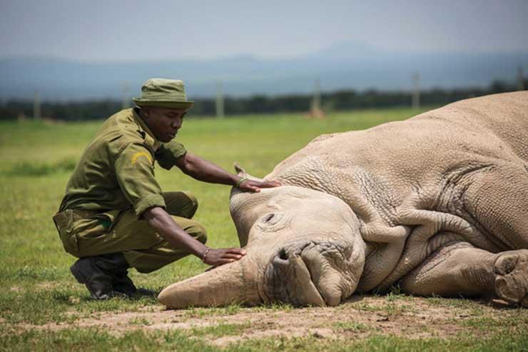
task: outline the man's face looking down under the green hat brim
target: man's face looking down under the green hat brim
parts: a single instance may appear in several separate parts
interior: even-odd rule
[[[178,129],[183,124],[186,109],[168,109],[146,106],[141,109],[141,115],[156,139],[166,143],[176,137]]]

